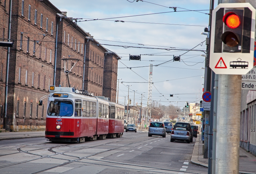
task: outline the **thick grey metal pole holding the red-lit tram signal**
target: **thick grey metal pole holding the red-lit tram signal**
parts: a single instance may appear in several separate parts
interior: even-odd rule
[[[222,3],[245,3],[245,0],[222,0]],[[242,75],[219,74],[216,133],[218,174],[239,173],[241,80]]]

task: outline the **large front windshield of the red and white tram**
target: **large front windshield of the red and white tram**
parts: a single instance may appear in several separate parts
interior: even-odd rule
[[[71,101],[51,101],[47,114],[49,116],[71,117],[73,115],[73,103]]]

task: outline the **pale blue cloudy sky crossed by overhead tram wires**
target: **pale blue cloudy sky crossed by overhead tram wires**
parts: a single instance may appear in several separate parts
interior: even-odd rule
[[[200,55],[205,53],[165,49],[190,50],[198,45],[194,49],[206,50],[205,42],[202,43],[206,36],[200,33],[209,25],[209,15],[205,13],[209,13],[210,0],[50,1],[61,11],[66,11],[68,17],[86,19],[121,17],[77,23],[94,36],[99,43],[107,44],[103,45],[104,47],[116,52],[121,57],[118,62],[118,79],[122,79],[119,80],[118,103],[124,104],[126,96],[125,103],[127,104],[128,87],[126,85],[132,85],[129,92],[132,105],[134,95],[135,103],[141,102],[141,94],[145,96],[142,98],[142,106],[147,105],[149,64],[153,64],[152,101],[159,104],[160,100],[161,105],[165,106],[169,106],[170,103],[175,106],[178,104],[178,107],[182,108],[186,101],[195,103],[202,98],[204,78],[201,77],[204,77],[204,70],[201,67],[205,67],[205,57]],[[174,12],[173,8],[168,7],[177,7],[177,10]],[[124,22],[115,22],[115,20]],[[144,48],[123,48],[109,45]],[[129,54],[141,55],[141,61],[129,61]],[[173,55],[181,55],[181,61],[173,62]],[[155,66],[158,64],[161,65]],[[145,67],[130,69],[130,67],[138,66]],[[137,91],[133,92],[132,90]],[[170,94],[173,94],[173,97],[170,97]]]

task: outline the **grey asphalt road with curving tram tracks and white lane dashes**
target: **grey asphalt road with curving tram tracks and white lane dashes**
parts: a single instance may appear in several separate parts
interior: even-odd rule
[[[51,143],[45,138],[0,141],[0,174],[207,173],[190,163],[193,143],[170,142],[147,132],[84,143]]]

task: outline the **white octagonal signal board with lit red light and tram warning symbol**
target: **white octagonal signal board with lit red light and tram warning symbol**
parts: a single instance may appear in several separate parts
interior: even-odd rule
[[[220,3],[212,11],[209,66],[216,74],[253,68],[255,11],[250,3]]]

